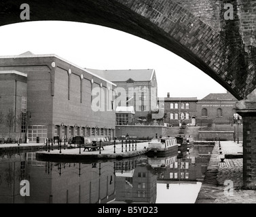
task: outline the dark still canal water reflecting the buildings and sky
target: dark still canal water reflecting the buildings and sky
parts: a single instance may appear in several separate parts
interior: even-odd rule
[[[194,145],[179,155],[93,162],[0,154],[0,203],[194,203],[212,150]]]

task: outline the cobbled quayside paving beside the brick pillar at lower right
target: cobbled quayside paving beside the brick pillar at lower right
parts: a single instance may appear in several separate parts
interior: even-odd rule
[[[221,142],[221,150],[234,158],[221,162],[219,144],[215,144],[208,166],[213,176],[204,179],[196,203],[256,203],[256,191],[242,189],[242,142]]]

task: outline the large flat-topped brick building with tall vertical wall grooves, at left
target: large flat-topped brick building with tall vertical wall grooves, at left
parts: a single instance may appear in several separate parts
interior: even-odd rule
[[[22,112],[22,139],[115,136],[114,83],[54,54],[0,57],[0,112]],[[110,109],[109,109],[110,108]],[[25,132],[24,132],[25,131]],[[0,125],[1,137],[8,130]],[[12,127],[12,136],[20,130]]]

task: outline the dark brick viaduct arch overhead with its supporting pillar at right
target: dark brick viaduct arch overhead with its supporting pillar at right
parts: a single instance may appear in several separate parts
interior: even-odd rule
[[[1,1],[0,26],[26,21],[20,19],[22,3],[22,0]],[[247,168],[244,184],[256,188],[256,154],[253,154],[256,140],[250,136],[256,133],[255,1],[28,0],[26,3],[30,6],[29,21],[66,20],[115,28],[170,50],[223,85],[240,100],[237,109],[244,116],[244,168]],[[225,19],[227,3],[233,6],[233,20]]]

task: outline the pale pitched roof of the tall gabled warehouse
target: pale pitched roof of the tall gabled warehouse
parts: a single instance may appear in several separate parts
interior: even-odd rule
[[[154,69],[126,69],[105,71],[89,68],[86,69],[112,82],[128,81],[128,79],[132,79],[134,81],[151,81],[152,75],[154,73]]]

